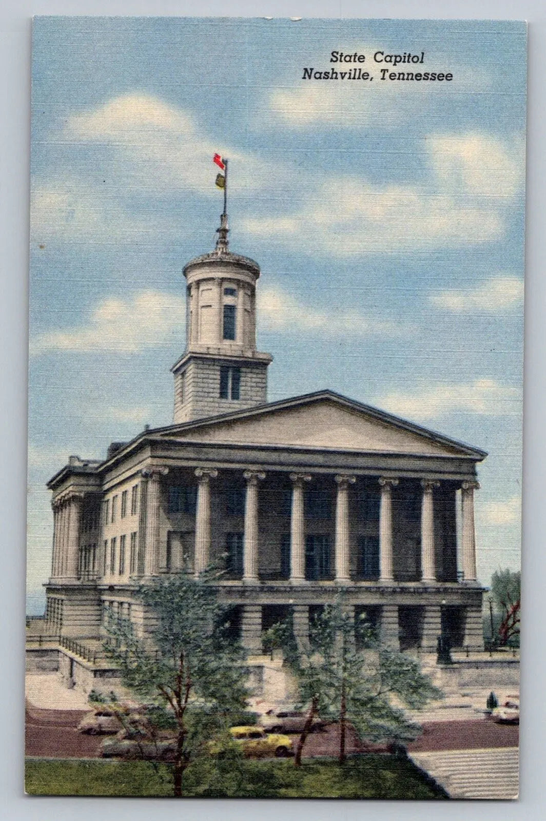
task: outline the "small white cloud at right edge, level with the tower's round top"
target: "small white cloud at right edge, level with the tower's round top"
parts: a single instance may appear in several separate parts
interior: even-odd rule
[[[523,280],[510,275],[492,277],[477,287],[470,286],[430,294],[429,300],[438,308],[455,314],[474,311],[493,314],[521,305]]]

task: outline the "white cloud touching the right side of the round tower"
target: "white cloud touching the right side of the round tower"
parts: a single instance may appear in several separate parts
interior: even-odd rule
[[[262,328],[288,333],[319,331],[330,336],[369,336],[374,333],[397,336],[407,330],[401,323],[383,322],[366,317],[357,311],[339,310],[335,306],[330,306],[328,311],[315,310],[310,305],[302,305],[290,294],[276,288],[259,290],[258,312]]]

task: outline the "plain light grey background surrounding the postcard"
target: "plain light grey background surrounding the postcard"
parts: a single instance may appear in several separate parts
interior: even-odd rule
[[[436,17],[529,21],[521,800],[504,802],[192,801],[23,795],[25,475],[33,14]],[[294,25],[297,25],[295,23]],[[6,819],[543,819],[546,595],[546,3],[544,0],[0,0],[0,814]]]

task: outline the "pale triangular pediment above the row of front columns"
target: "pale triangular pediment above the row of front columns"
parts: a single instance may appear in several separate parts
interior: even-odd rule
[[[474,456],[475,450],[331,392],[163,429],[162,438],[326,450]]]

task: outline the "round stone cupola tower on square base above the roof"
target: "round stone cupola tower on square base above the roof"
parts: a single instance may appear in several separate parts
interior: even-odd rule
[[[188,422],[267,401],[270,354],[256,350],[254,259],[232,254],[227,213],[215,249],[184,268],[186,351],[172,367],[174,422]]]

